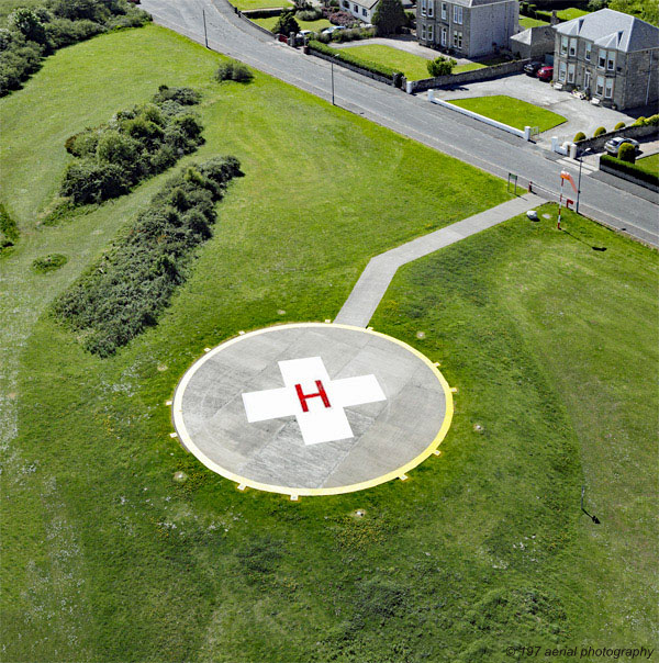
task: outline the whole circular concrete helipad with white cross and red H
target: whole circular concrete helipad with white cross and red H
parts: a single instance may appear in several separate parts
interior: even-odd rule
[[[242,486],[331,495],[403,476],[446,435],[453,398],[421,352],[332,324],[233,338],[193,363],[172,405],[182,443]]]

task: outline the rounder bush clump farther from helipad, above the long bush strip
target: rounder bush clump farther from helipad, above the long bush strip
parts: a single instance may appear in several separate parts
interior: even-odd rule
[[[203,142],[202,126],[187,106],[199,100],[190,88],[160,86],[153,103],[67,138],[66,150],[77,160],[65,172],[60,194],[75,204],[118,198],[194,151]]]

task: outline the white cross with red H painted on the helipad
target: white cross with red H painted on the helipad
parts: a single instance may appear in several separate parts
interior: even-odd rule
[[[280,361],[284,387],[243,394],[247,420],[294,416],[305,445],[354,437],[344,411],[386,401],[375,375],[331,380],[320,357]]]

